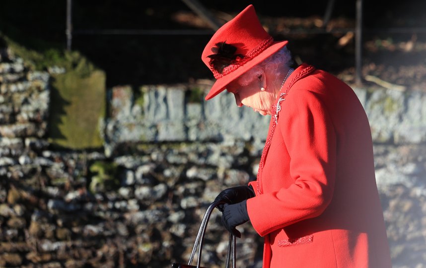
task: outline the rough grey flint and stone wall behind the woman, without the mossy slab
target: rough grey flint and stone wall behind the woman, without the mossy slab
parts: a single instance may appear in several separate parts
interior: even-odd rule
[[[269,124],[228,94],[191,102],[193,88],[114,87],[104,148],[53,150],[49,73],[30,71],[1,49],[0,267],[186,262],[208,204],[222,189],[255,179]],[[355,92],[371,123],[394,267],[426,267],[425,94]],[[237,267],[260,267],[262,238],[249,224],[239,229]],[[222,267],[226,241],[215,211],[202,264]]]

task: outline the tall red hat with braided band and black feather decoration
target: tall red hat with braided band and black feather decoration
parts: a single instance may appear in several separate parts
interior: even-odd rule
[[[201,59],[216,78],[206,100],[222,92],[227,84],[287,43],[274,41],[260,24],[254,6],[247,6],[220,27],[204,48]]]

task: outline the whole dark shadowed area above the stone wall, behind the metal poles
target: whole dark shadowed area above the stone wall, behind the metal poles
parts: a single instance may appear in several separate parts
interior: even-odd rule
[[[81,52],[106,71],[107,87],[118,84],[176,83],[190,79],[213,79],[202,63],[201,53],[209,41],[209,26],[183,1],[73,0],[75,33],[72,49]],[[355,38],[343,33],[294,34],[288,30],[318,29],[328,0],[265,3],[253,0],[262,23],[301,61],[334,74],[353,75]],[[426,28],[426,1],[364,0],[363,73],[394,83],[421,83],[426,70],[408,69],[425,65],[426,32],[405,33],[377,29]],[[200,0],[221,23],[244,9],[247,1]],[[335,1],[329,28],[355,26],[355,0]],[[315,26],[316,25],[316,26]],[[204,30],[188,35],[81,34],[81,30]],[[14,0],[2,3],[0,31],[23,46],[46,51],[66,48],[66,1]],[[80,32],[80,34],[79,34]],[[211,31],[213,33],[213,31]],[[343,39],[342,39],[343,38]],[[410,43],[411,42],[411,43]],[[410,44],[412,47],[410,47]],[[402,68],[402,70],[401,70]],[[408,69],[408,70],[407,70]],[[408,74],[407,74],[408,73]],[[408,77],[408,78],[405,78]]]

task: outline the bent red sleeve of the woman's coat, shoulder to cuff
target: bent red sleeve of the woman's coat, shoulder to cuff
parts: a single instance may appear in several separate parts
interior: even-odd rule
[[[261,236],[320,215],[333,196],[337,143],[333,124],[321,93],[306,89],[306,83],[297,84],[281,102],[275,130],[281,132],[287,152],[274,151],[266,158],[288,153],[291,183],[247,201],[250,221]],[[263,185],[274,180],[284,178],[273,172],[262,174]]]

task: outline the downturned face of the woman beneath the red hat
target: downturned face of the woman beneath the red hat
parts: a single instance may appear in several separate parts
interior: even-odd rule
[[[255,77],[253,81],[248,84],[241,85],[240,79],[236,79],[229,83],[226,90],[231,92],[235,96],[235,102],[238,107],[243,105],[253,108],[255,112],[259,112],[261,115],[271,114],[271,108],[274,104],[276,94],[274,90],[271,90],[267,85],[264,85],[264,91],[261,90],[263,79],[262,77]]]

